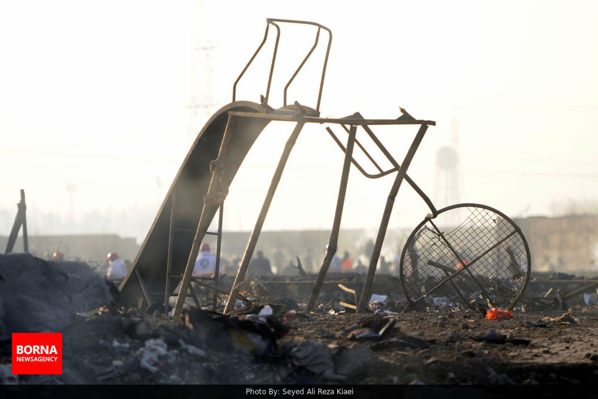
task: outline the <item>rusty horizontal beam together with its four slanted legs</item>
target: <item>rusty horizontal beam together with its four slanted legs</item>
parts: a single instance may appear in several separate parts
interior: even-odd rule
[[[301,106],[297,102],[295,102],[295,105],[297,106],[297,109],[300,109],[300,110],[304,109],[303,106]],[[220,203],[222,203],[222,201],[224,201],[224,197],[226,196],[226,193],[220,191],[221,188],[219,188],[219,187],[224,187],[225,184],[223,184],[220,181],[221,176],[218,176],[218,170],[219,170],[219,167],[224,167],[221,165],[221,163],[222,163],[221,159],[222,159],[222,157],[224,157],[224,155],[227,151],[228,145],[230,145],[230,140],[231,140],[230,131],[232,129],[231,126],[233,126],[234,123],[240,123],[240,120],[242,120],[244,118],[263,118],[263,119],[267,119],[269,121],[292,121],[295,123],[295,127],[286,142],[283,153],[280,156],[279,163],[276,167],[276,170],[274,171],[274,175],[270,182],[270,187],[266,194],[266,198],[264,199],[264,203],[262,205],[260,214],[258,215],[257,221],[255,223],[254,230],[252,231],[251,236],[249,237],[249,242],[246,246],[245,253],[243,254],[243,259],[240,264],[239,270],[237,271],[237,275],[234,280],[233,287],[231,288],[231,291],[228,295],[228,301],[224,308],[224,313],[231,312],[231,310],[233,310],[233,308],[234,308],[234,303],[236,302],[237,295],[239,294],[239,285],[245,279],[245,275],[248,270],[249,263],[254,254],[255,246],[257,245],[257,241],[260,236],[261,229],[263,227],[264,221],[266,220],[266,215],[270,209],[270,204],[274,197],[274,193],[276,192],[276,188],[280,182],[280,178],[282,177],[282,173],[286,166],[286,162],[291,153],[291,150],[294,147],[295,142],[297,141],[297,138],[298,138],[301,130],[303,129],[304,124],[306,124],[306,123],[318,123],[318,124],[337,123],[337,124],[341,124],[342,126],[350,126],[348,129],[349,130],[349,138],[347,139],[347,147],[346,148],[343,147],[343,151],[345,154],[344,163],[343,163],[343,172],[341,174],[341,181],[340,181],[340,187],[338,190],[338,198],[337,198],[335,217],[334,217],[332,231],[331,231],[329,242],[328,242],[327,254],[325,255],[321,269],[318,273],[318,278],[316,279],[316,282],[312,289],[312,293],[310,294],[310,299],[307,304],[308,310],[312,310],[313,307],[315,306],[315,301],[318,298],[318,294],[319,294],[319,291],[321,290],[322,283],[324,282],[325,276],[327,275],[328,267],[331,263],[332,257],[334,256],[334,254],[336,252],[336,249],[337,249],[338,233],[340,231],[340,222],[341,222],[341,217],[343,214],[344,198],[346,195],[347,182],[349,179],[350,165],[352,163],[354,163],[354,164],[356,163],[355,160],[353,159],[352,154],[353,154],[353,146],[356,144],[355,136],[356,136],[357,126],[362,126],[362,127],[364,127],[364,129],[369,130],[368,134],[375,138],[376,136],[374,135],[373,132],[371,132],[371,129],[369,129],[368,124],[397,125],[397,126],[417,125],[417,124],[420,125],[420,128],[413,140],[413,143],[411,144],[411,147],[407,151],[407,155],[405,156],[405,159],[403,160],[402,166],[398,166],[398,163],[396,163],[396,161],[394,161],[392,159],[392,157],[390,157],[390,159],[392,159],[393,165],[395,165],[395,169],[392,171],[397,171],[398,173],[397,173],[397,177],[395,179],[395,183],[393,184],[393,187],[390,190],[390,194],[388,197],[385,212],[383,214],[383,218],[380,223],[379,236],[376,241],[376,246],[374,246],[374,255],[370,262],[370,267],[368,269],[368,276],[367,276],[365,284],[364,284],[364,289],[362,290],[362,296],[361,296],[361,301],[359,302],[359,306],[364,306],[362,304],[362,301],[363,301],[364,297],[365,298],[369,297],[369,293],[371,290],[371,284],[373,281],[374,273],[376,271],[377,258],[380,255],[380,249],[382,248],[382,243],[384,240],[384,236],[386,234],[386,229],[388,228],[390,213],[392,212],[392,205],[394,203],[396,193],[399,190],[402,180],[405,178],[407,168],[410,165],[411,159],[413,159],[413,156],[417,150],[417,147],[419,147],[419,144],[422,141],[423,136],[425,135],[425,132],[428,129],[428,126],[435,126],[435,122],[429,121],[429,120],[416,120],[414,118],[401,118],[401,117],[399,117],[397,119],[386,119],[386,120],[385,119],[369,119],[368,120],[368,119],[364,119],[362,117],[359,117],[359,118],[319,118],[319,117],[307,116],[300,112],[301,111],[298,111],[295,114],[289,114],[288,112],[285,112],[284,114],[279,114],[276,111],[274,111],[272,113],[241,112],[241,111],[228,112],[228,123],[227,123],[227,126],[224,131],[224,136],[222,137],[221,147],[220,147],[220,150],[218,153],[218,159],[216,159],[215,161],[212,162],[213,165],[216,165],[216,168],[212,171],[212,178],[210,179],[208,195],[206,196],[206,202],[203,206],[202,215],[200,217],[200,221],[197,226],[196,236],[194,238],[193,246],[191,247],[191,252],[188,257],[187,267],[185,268],[185,273],[182,278],[181,288],[179,290],[178,297],[176,300],[174,315],[180,314],[180,312],[182,310],[182,305],[184,304],[184,299],[187,296],[187,290],[190,288],[191,274],[193,272],[195,259],[197,258],[197,254],[199,252],[199,245],[200,245],[201,241],[203,240],[203,237],[206,234],[205,230],[208,228],[209,224],[211,223],[211,220],[208,220],[208,218],[206,217],[206,215],[209,214],[208,208],[210,206],[210,199],[213,199],[212,197],[214,197],[216,200],[218,200]],[[338,140],[338,139],[336,139],[336,140]],[[379,140],[376,139],[376,143],[380,147],[384,148],[382,143]],[[363,148],[361,144],[359,144],[359,147]],[[384,151],[386,151],[386,148],[384,148]],[[386,151],[386,153],[388,154],[388,151]],[[414,185],[414,183],[413,183],[413,185]],[[423,198],[426,200],[426,203],[429,203],[428,197],[425,197],[425,195],[424,195]],[[431,205],[431,203],[430,203],[430,205]],[[215,205],[211,205],[211,206],[215,206]],[[218,205],[216,205],[216,206],[218,206]],[[435,212],[435,208],[433,205],[431,205],[431,209],[432,209],[432,212]],[[219,219],[221,219],[221,215],[219,215]],[[218,264],[218,262],[216,262],[216,264]],[[217,273],[217,271],[216,271],[216,273]],[[216,288],[217,288],[217,284],[216,284]],[[166,306],[166,304],[165,304],[165,306]],[[360,309],[358,307],[358,312],[362,312],[362,311],[363,311],[363,309]]]

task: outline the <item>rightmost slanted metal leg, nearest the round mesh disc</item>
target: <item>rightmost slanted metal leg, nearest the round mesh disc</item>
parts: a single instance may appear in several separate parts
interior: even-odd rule
[[[382,215],[382,221],[380,221],[380,228],[378,229],[378,235],[376,237],[376,243],[374,244],[374,251],[372,252],[372,256],[370,259],[370,266],[368,267],[368,273],[365,276],[364,281],[364,289],[361,291],[361,298],[359,299],[359,305],[357,306],[357,312],[362,313],[367,306],[368,300],[370,299],[370,291],[372,287],[372,283],[374,281],[374,274],[376,273],[376,266],[378,264],[378,258],[380,257],[380,251],[382,250],[382,243],[384,242],[384,238],[386,236],[386,229],[388,229],[388,222],[390,220],[390,214],[392,214],[392,206],[395,203],[396,194],[399,192],[399,188],[401,187],[401,182],[405,178],[407,174],[407,169],[417,151],[417,147],[419,147],[420,142],[422,142],[423,136],[428,130],[428,125],[422,124],[417,130],[417,134],[411,143],[411,147],[407,151],[405,155],[405,159],[396,173],[395,182],[393,182],[392,187],[390,188],[390,193],[388,194],[388,199],[386,199],[386,206],[384,209],[384,214]]]

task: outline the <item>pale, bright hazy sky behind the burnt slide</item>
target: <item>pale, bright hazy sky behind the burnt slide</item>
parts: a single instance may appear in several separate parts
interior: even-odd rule
[[[395,118],[401,106],[437,121],[409,174],[438,208],[449,203],[436,153],[455,136],[458,202],[521,217],[598,198],[595,1],[4,1],[0,235],[24,188],[30,234],[142,240],[194,136],[230,102],[266,17],[332,29],[323,116]],[[272,106],[312,40],[310,29],[282,26]],[[259,101],[269,54],[237,99]],[[291,100],[315,105],[321,54]],[[193,118],[191,103],[206,110]],[[273,124],[252,148],[227,199],[228,230],[252,228],[291,129]],[[375,129],[397,159],[416,130]],[[342,160],[324,127],[306,128],[265,229],[329,228]],[[376,227],[393,176],[358,173],[343,227]],[[414,227],[427,212],[404,185],[391,227]]]

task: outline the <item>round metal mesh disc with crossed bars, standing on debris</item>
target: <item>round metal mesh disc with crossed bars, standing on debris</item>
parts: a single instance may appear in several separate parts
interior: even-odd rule
[[[416,310],[506,309],[527,285],[529,248],[515,224],[495,209],[454,205],[411,233],[400,273]]]

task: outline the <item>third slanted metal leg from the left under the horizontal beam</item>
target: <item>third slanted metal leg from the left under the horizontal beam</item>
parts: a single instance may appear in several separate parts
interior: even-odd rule
[[[343,217],[344,198],[347,193],[347,182],[349,181],[349,170],[351,169],[351,159],[353,155],[353,147],[355,145],[356,133],[357,126],[351,126],[351,129],[349,130],[349,138],[347,139],[347,151],[344,154],[343,173],[340,179],[340,187],[338,188],[338,199],[336,211],[334,213],[334,222],[332,223],[332,232],[330,233],[330,239],[328,240],[326,256],[324,257],[324,261],[320,267],[316,282],[313,285],[312,293],[307,301],[307,312],[312,311],[316,306],[316,300],[318,300],[318,295],[322,289],[322,283],[324,282],[326,274],[328,273],[328,267],[330,266],[332,258],[337,251],[338,232],[340,230],[340,221]]]

